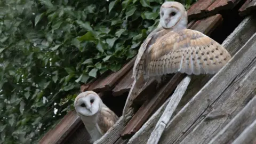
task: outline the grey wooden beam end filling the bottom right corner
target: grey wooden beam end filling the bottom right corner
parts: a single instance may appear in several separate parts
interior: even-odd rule
[[[255,106],[255,105],[254,105]],[[255,138],[256,133],[256,119],[254,122],[248,126],[243,133],[239,135],[239,137],[233,142],[233,144],[240,144],[240,143],[256,143]]]

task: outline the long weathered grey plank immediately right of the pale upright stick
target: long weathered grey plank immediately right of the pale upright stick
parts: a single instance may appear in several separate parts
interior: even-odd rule
[[[171,120],[161,143],[178,142],[180,137],[190,132],[191,126],[200,120],[202,114],[211,109],[220,95],[235,78],[241,74],[256,58],[256,34],[214,77],[191,99],[185,107]],[[223,81],[225,79],[225,81]],[[191,111],[193,110],[193,111]]]

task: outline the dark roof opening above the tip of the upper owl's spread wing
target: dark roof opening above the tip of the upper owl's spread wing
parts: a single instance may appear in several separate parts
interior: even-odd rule
[[[234,31],[244,19],[238,14],[238,10],[244,2],[245,0],[240,1],[233,9],[219,11],[223,21],[221,25],[212,32],[211,38],[222,44],[222,42]]]

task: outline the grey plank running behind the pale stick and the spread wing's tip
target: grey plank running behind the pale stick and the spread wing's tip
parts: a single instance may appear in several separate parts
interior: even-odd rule
[[[256,19],[253,17],[248,17],[244,19],[239,26],[231,33],[226,40],[222,43],[223,46],[234,55],[246,42],[247,40],[256,32],[256,25],[254,23]],[[179,112],[183,106],[204,86],[204,84],[209,81],[212,76],[193,76],[190,85],[188,86],[187,92],[181,99],[179,106],[175,110],[175,114]],[[166,104],[165,104],[166,106]],[[157,120],[162,115],[165,106],[159,108],[158,111],[149,118],[149,120],[141,127],[141,129],[133,135],[129,140],[128,144],[141,143],[146,144],[150,133],[154,130]],[[256,144],[256,143],[255,143]]]

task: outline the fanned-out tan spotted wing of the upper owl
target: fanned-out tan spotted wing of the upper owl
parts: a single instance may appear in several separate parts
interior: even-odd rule
[[[203,33],[170,31],[151,46],[144,76],[177,73],[215,74],[231,59],[228,51]]]

